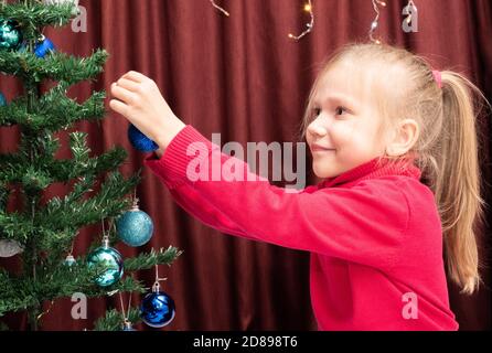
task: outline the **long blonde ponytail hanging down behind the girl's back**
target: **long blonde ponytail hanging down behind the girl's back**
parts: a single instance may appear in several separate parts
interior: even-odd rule
[[[484,207],[473,93],[486,98],[458,73],[445,71],[441,77],[441,151],[431,184],[442,222],[448,275],[463,292],[472,293],[480,284],[475,227],[483,221]]]

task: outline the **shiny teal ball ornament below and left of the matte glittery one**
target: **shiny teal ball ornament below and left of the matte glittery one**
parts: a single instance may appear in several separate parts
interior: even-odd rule
[[[87,257],[89,267],[105,266],[106,270],[99,275],[95,281],[99,287],[109,287],[121,279],[124,275],[124,261],[121,254],[109,246],[108,237],[104,237],[103,246],[95,249]]]

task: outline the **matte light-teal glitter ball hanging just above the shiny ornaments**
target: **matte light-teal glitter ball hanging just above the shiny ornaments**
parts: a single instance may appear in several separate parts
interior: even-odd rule
[[[116,232],[121,242],[128,246],[139,247],[150,240],[153,222],[147,213],[140,211],[138,199],[135,199],[131,210],[116,221]]]

